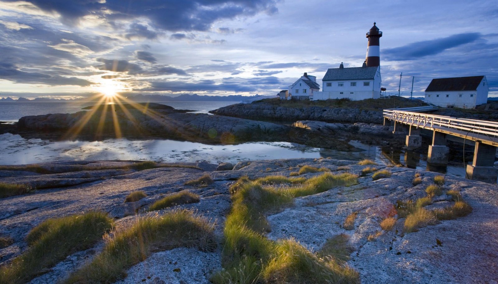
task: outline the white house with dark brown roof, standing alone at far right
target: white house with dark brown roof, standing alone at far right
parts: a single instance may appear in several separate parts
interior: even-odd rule
[[[486,76],[432,79],[425,102],[443,107],[474,108],[488,101]]]

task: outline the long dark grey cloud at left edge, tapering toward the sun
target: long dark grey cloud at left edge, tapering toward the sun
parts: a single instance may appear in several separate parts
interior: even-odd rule
[[[0,63],[0,79],[15,83],[44,84],[50,86],[75,85],[85,87],[94,84],[90,81],[75,77],[67,78],[59,75],[24,72],[18,70],[16,66],[10,63]]]

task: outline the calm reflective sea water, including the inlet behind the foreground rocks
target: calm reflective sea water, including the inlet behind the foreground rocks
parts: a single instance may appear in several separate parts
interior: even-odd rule
[[[238,101],[180,101],[160,102],[176,109],[190,109],[195,113],[208,111]],[[0,102],[0,121],[15,122],[26,115],[47,113],[73,113],[94,102]],[[424,155],[405,153],[380,145],[367,145],[352,140],[350,144],[362,149],[358,152],[343,152],[330,148],[315,148],[286,141],[248,142],[237,145],[209,145],[171,139],[110,138],[100,141],[43,140],[22,138],[16,134],[0,135],[0,165],[24,165],[52,161],[78,160],[133,160],[156,162],[200,162],[214,164],[230,162],[236,164],[249,160],[272,160],[290,158],[332,158],[338,160],[372,159],[378,163],[394,163],[420,170],[428,169]],[[411,157],[410,157],[411,155]],[[465,175],[464,167],[448,166],[436,169],[453,176]]]

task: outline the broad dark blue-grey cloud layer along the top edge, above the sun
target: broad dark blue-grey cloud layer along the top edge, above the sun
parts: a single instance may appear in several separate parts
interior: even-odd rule
[[[109,20],[145,17],[157,28],[168,31],[206,31],[218,20],[251,16],[259,12],[272,14],[277,11],[276,0],[28,1],[42,10],[61,14],[66,24],[75,24],[86,15],[98,15]],[[141,29],[143,26],[135,26],[132,30],[137,28]],[[154,35],[150,33],[149,36]]]

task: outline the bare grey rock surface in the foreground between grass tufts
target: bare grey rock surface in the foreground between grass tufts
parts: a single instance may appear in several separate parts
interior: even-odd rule
[[[64,173],[81,163],[83,172]],[[309,165],[327,168],[333,173],[361,174],[367,166],[355,161],[331,159],[289,159],[241,162],[233,170],[218,169],[208,163],[176,164],[149,170],[101,170],[131,164],[129,161],[81,161],[40,164],[57,169],[56,174],[19,172],[9,175],[0,171],[1,182],[14,184],[42,184],[30,194],[0,199],[0,236],[13,243],[0,249],[0,264],[8,264],[28,247],[24,237],[31,228],[47,218],[60,217],[88,210],[103,210],[126,226],[135,214],[164,214],[177,207],[197,210],[197,214],[216,222],[216,233],[222,240],[223,223],[231,207],[229,187],[236,179],[250,179],[269,175],[289,176],[300,167]],[[167,166],[167,165],[162,165]],[[226,166],[226,165],[225,165]],[[377,165],[377,169],[385,166]],[[270,239],[295,238],[310,251],[317,251],[325,241],[337,234],[350,236],[354,252],[348,265],[355,268],[362,283],[498,283],[498,187],[447,176],[443,189],[461,192],[474,211],[456,220],[446,220],[421,228],[414,233],[403,233],[404,219],[398,219],[395,229],[382,231],[379,222],[392,214],[397,200],[425,196],[425,188],[432,184],[433,172],[406,168],[386,168],[390,178],[373,181],[372,173],[361,175],[359,184],[335,187],[325,192],[298,197],[294,203],[267,216],[271,225]],[[413,186],[415,173],[420,173],[422,184]],[[61,175],[67,175],[63,177]],[[185,182],[209,174],[214,183],[204,188],[185,186]],[[321,173],[301,175],[306,178]],[[101,175],[101,179],[94,177]],[[77,179],[78,184],[57,183],[61,179]],[[81,181],[80,181],[81,180]],[[56,185],[51,187],[50,185]],[[181,190],[190,190],[201,196],[199,203],[175,206],[150,213],[141,213],[155,200]],[[125,196],[134,190],[143,190],[147,197],[124,203]],[[430,206],[448,204],[449,196],[435,198]],[[343,227],[352,212],[358,216],[353,230]],[[370,235],[375,235],[370,238]],[[440,240],[438,244],[437,240]],[[84,252],[68,256],[54,268],[31,283],[55,283],[67,277],[102,249],[103,243]],[[145,261],[133,266],[127,277],[117,283],[209,283],[209,276],[221,267],[221,245],[214,253],[179,248],[153,253]]]

